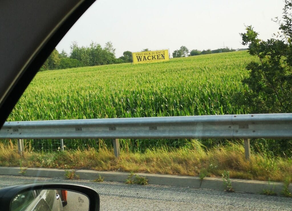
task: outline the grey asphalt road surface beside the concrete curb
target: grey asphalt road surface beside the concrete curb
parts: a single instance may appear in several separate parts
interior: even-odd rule
[[[100,194],[101,210],[292,210],[292,198],[158,185],[0,175],[0,187],[34,183],[81,184]],[[78,209],[78,207],[75,207]],[[70,209],[72,210],[72,209]]]

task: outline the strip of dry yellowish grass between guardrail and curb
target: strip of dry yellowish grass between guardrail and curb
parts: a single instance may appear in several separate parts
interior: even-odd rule
[[[230,178],[265,181],[269,178],[271,181],[284,181],[292,175],[291,158],[252,153],[251,161],[247,162],[241,142],[205,150],[198,141],[193,140],[192,147],[187,149],[152,149],[145,153],[121,150],[119,158],[115,158],[113,150],[107,148],[51,153],[33,152],[29,146],[25,149],[21,157],[17,146],[0,143],[0,165],[190,176],[199,176],[200,172],[204,172],[209,177],[220,177],[225,170],[230,172]]]

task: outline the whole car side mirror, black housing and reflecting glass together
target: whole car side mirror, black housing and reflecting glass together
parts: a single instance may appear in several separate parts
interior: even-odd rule
[[[0,189],[1,210],[99,210],[99,195],[72,184],[34,183]]]

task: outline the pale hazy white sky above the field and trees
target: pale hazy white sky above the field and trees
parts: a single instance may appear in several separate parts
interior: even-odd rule
[[[136,52],[180,46],[189,50],[247,48],[239,33],[252,25],[266,40],[278,32],[271,19],[282,17],[282,0],[97,0],[57,45],[70,53],[72,41],[102,47],[111,41],[116,57]]]

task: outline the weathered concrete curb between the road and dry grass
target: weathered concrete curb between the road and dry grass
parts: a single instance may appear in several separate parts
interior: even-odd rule
[[[23,172],[23,173],[21,173]],[[105,181],[125,182],[129,173],[127,172],[107,172],[93,170],[76,170],[76,175],[80,179],[97,179],[99,175],[104,177]],[[149,184],[169,185],[192,188],[208,188],[216,190],[224,190],[225,186],[221,178],[205,177],[201,182],[199,177],[178,176],[178,175],[160,175],[137,173],[141,177],[146,177]],[[65,170],[50,168],[20,168],[20,167],[0,167],[0,175],[17,175],[17,176],[37,176],[37,177],[58,177],[65,178]],[[265,182],[257,180],[230,179],[232,187],[236,192],[246,193],[263,193],[263,190],[272,190],[281,195],[283,183],[281,182]],[[292,184],[289,185],[292,192]]]

